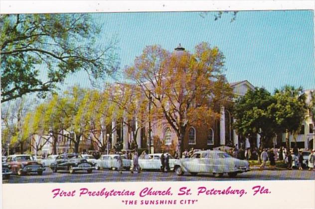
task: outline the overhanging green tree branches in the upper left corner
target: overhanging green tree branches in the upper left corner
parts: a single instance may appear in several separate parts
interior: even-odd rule
[[[2,103],[32,92],[44,97],[80,70],[93,82],[118,68],[117,41],[97,47],[100,28],[89,14],[5,14],[0,25]]]

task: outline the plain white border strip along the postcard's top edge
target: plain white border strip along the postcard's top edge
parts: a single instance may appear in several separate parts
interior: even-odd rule
[[[0,13],[314,9],[314,0],[1,0]]]

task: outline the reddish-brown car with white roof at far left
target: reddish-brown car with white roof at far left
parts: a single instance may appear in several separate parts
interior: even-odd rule
[[[36,162],[31,155],[9,155],[7,163],[11,166],[12,173],[17,173],[19,176],[34,172],[42,175],[45,170],[45,167]]]

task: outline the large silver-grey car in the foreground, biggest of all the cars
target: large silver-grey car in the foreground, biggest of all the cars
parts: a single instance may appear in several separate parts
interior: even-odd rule
[[[226,173],[229,177],[235,177],[238,173],[248,172],[249,163],[233,158],[226,152],[205,150],[195,152],[190,158],[181,158],[174,170],[178,176],[189,172],[191,175],[212,173],[215,177],[222,177]]]

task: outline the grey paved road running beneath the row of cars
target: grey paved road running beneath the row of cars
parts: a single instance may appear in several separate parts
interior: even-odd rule
[[[176,176],[174,173],[161,173],[156,171],[143,171],[141,173],[131,174],[129,171],[123,171],[122,174],[117,171],[94,170],[92,174],[77,171],[75,174],[68,172],[52,173],[48,168],[42,176],[28,174],[26,176],[11,175],[9,180],[3,180],[6,183],[70,183],[70,182],[137,182],[137,181],[248,181],[248,180],[315,180],[314,171],[299,170],[253,170],[247,173],[238,174],[235,178],[229,178],[224,175],[222,178],[215,178],[208,174],[198,174],[191,176],[185,173],[183,176]]]

